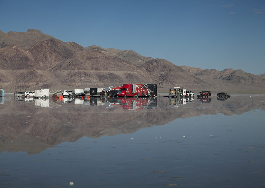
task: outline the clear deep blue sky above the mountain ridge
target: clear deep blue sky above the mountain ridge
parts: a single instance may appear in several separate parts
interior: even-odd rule
[[[0,0],[0,8],[5,33],[38,29],[178,66],[265,73],[264,0]]]

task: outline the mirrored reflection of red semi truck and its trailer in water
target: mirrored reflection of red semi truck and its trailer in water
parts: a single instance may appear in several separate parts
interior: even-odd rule
[[[117,98],[111,102],[112,106],[122,107],[126,110],[139,110],[157,107],[157,98]]]

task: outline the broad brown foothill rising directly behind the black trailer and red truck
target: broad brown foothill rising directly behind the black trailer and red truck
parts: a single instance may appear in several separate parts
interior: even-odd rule
[[[61,61],[51,70],[64,84],[86,87],[105,87],[128,82],[148,81],[148,74],[133,63],[106,55],[104,52],[88,50],[79,52]]]

